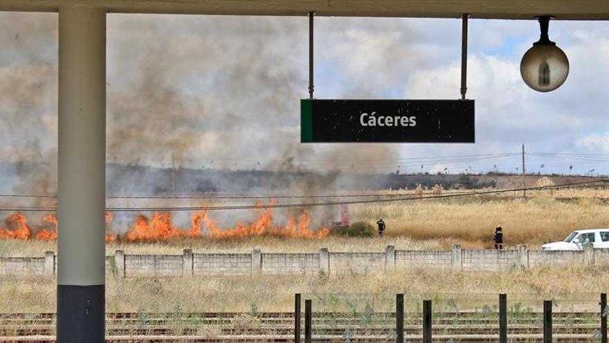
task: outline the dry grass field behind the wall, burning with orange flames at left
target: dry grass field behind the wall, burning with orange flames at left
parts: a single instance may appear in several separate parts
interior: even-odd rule
[[[186,247],[195,252],[250,252],[256,248],[316,252],[321,247],[380,252],[386,245],[397,249],[448,249],[455,243],[480,249],[492,247],[497,225],[504,229],[508,246],[525,244],[536,249],[545,242],[565,238],[574,229],[609,227],[607,190],[529,192],[526,201],[515,195],[520,193],[352,205],[352,222],[375,225],[378,218],[384,218],[387,230],[382,239],[340,237],[323,227],[312,229],[307,211],[293,213],[278,224],[272,209],[255,209],[252,220],[233,227],[221,227],[205,212],[190,213],[190,224],[183,227],[174,224],[171,213],[138,214],[126,234],[116,236],[109,231],[107,249],[109,254],[114,249],[127,254],[181,254]],[[235,212],[237,215],[242,216],[242,212]],[[108,215],[108,227],[112,220]],[[55,250],[56,227],[53,216],[44,217],[42,225],[33,228],[25,216],[12,213],[0,225],[0,238],[5,238],[0,239],[0,255],[41,256],[44,249]]]

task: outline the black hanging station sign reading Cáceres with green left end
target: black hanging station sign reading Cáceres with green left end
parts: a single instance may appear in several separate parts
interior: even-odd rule
[[[302,143],[475,143],[474,100],[300,100]]]

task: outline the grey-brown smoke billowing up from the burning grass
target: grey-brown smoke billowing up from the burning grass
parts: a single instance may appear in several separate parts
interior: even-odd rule
[[[3,13],[0,19],[0,156],[41,166],[34,175],[18,173],[24,177],[12,191],[55,194],[57,15]],[[316,57],[338,63],[336,70],[345,70],[344,77],[353,81],[342,90],[318,84],[321,98],[387,97],[401,82],[397,70],[425,63],[404,49],[411,38],[403,21],[319,22]],[[341,172],[374,171],[377,159],[398,157],[390,145],[300,144],[299,99],[307,97],[308,72],[305,17],[109,15],[107,33],[111,163],[318,171],[326,177],[300,174],[286,189],[254,190],[313,195],[358,186]],[[319,82],[329,77],[320,69],[316,76]],[[167,190],[167,175],[131,171],[113,173],[109,186],[134,179],[136,186],[126,193]],[[195,181],[179,180],[184,192]]]

